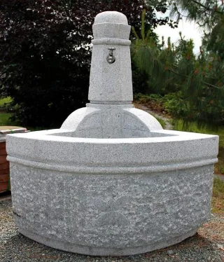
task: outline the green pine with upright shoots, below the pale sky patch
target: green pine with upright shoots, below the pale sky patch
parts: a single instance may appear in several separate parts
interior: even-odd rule
[[[168,96],[167,109],[174,117],[186,123],[220,125],[224,120],[223,60],[205,48],[196,56],[193,48],[193,40],[184,39],[182,34],[177,46],[170,39],[158,45],[150,32],[143,30],[132,52],[137,67],[148,74],[151,90],[163,95],[173,92]]]

